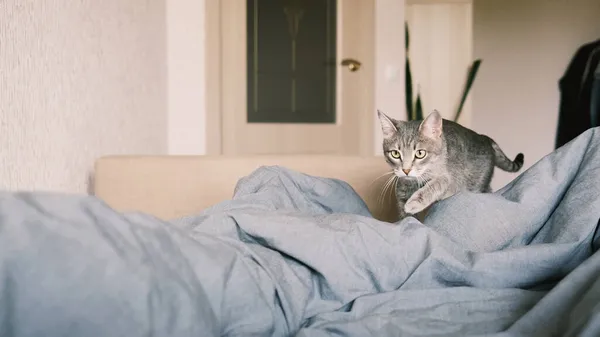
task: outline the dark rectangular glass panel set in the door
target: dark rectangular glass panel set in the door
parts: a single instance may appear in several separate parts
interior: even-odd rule
[[[247,0],[249,123],[335,123],[336,12],[336,0]]]

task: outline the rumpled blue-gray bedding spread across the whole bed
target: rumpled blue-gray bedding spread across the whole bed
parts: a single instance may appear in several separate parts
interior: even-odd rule
[[[0,336],[599,336],[599,220],[598,128],[424,224],[282,167],[171,222],[3,193]]]

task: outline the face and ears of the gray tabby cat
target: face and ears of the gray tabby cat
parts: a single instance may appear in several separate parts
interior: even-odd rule
[[[445,163],[442,117],[437,111],[425,120],[402,122],[378,111],[386,161],[400,178],[428,180]]]

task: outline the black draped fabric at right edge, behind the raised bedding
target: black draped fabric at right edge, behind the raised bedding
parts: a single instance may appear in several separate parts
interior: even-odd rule
[[[570,142],[600,120],[600,40],[577,50],[559,81],[560,108],[555,148]]]

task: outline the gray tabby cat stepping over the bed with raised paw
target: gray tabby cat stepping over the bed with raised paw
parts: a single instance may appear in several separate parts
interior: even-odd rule
[[[490,137],[442,119],[436,110],[409,122],[377,114],[383,153],[398,179],[400,219],[460,191],[491,192],[494,166],[507,172],[523,166],[522,153],[512,161]]]

